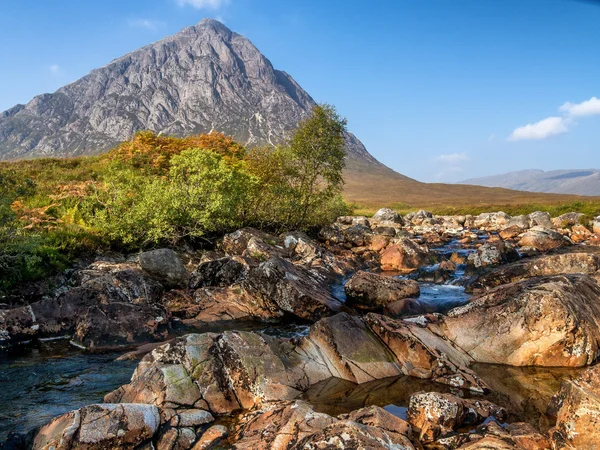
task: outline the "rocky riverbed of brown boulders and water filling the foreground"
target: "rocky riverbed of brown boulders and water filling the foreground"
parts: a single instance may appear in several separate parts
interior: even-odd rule
[[[4,448],[594,449],[599,231],[383,209],[82,262],[3,300]]]

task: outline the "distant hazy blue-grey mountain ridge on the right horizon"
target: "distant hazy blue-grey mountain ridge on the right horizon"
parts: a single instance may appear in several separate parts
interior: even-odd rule
[[[472,178],[461,184],[503,187],[528,192],[600,195],[600,170],[521,170],[502,175]]]

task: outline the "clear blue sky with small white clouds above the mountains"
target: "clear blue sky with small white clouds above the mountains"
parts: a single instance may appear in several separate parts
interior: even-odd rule
[[[393,169],[600,168],[600,2],[0,0],[0,111],[203,17],[248,37]]]

